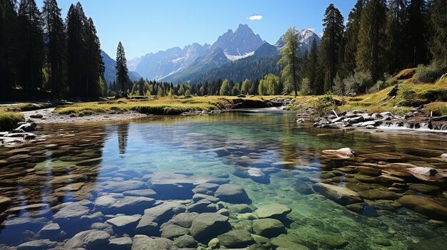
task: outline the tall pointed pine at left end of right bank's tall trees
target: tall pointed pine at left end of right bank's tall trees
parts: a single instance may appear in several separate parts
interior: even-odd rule
[[[343,58],[343,16],[330,4],[323,19],[323,37],[321,38],[321,57],[324,71],[324,92],[330,91],[336,77],[338,65]]]

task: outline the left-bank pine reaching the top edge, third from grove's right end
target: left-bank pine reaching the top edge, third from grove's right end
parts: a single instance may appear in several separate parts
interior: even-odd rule
[[[45,31],[49,38],[47,61],[50,68],[51,95],[61,98],[61,90],[66,81],[66,34],[57,1],[44,1],[43,14]]]

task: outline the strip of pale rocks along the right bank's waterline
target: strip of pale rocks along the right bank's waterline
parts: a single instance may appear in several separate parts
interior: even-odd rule
[[[427,117],[420,109],[406,115],[394,115],[391,112],[367,113],[364,110],[351,110],[343,113],[335,111],[313,119],[315,110],[308,108],[296,115],[296,123],[314,120],[313,127],[341,128],[343,130],[370,129],[381,127],[423,129],[433,132],[447,132],[447,116]]]

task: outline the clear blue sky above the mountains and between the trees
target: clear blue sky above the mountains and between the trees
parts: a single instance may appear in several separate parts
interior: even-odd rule
[[[36,0],[42,6],[43,0]],[[59,0],[62,15],[72,0]],[[119,41],[126,57],[190,43],[213,43],[228,29],[248,24],[268,43],[275,43],[289,26],[314,28],[321,34],[323,14],[333,3],[345,20],[356,0],[81,0],[96,25],[101,48],[112,58]],[[261,20],[249,20],[262,16]]]

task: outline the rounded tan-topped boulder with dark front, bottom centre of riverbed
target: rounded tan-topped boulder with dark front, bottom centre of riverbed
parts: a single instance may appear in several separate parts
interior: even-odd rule
[[[199,214],[191,226],[191,235],[194,239],[207,243],[210,239],[224,234],[231,229],[228,217],[216,213]]]

